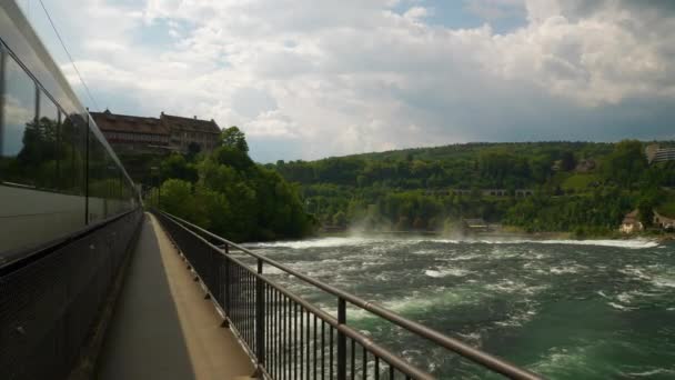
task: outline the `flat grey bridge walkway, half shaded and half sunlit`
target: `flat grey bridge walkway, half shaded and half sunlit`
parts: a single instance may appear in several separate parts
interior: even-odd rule
[[[145,214],[99,356],[97,379],[243,379],[254,368]]]

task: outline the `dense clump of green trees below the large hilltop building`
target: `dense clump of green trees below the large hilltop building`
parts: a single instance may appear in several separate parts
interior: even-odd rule
[[[254,163],[248,150],[244,134],[232,127],[210,154],[164,158],[152,174],[155,183],[162,183],[160,191],[150,191],[147,203],[157,206],[159,198],[162,210],[233,241],[311,233],[315,222],[305,213],[298,189]]]

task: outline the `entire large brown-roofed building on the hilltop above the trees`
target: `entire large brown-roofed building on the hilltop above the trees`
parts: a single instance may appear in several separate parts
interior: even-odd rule
[[[220,141],[220,127],[211,120],[182,118],[162,112],[158,118],[91,112],[99,129],[117,152],[159,153],[212,151]]]

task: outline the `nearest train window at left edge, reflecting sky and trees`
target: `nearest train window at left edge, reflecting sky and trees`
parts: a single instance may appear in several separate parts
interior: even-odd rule
[[[36,83],[12,58],[4,72],[4,109],[2,110],[2,150],[0,176],[4,182],[34,186],[32,143],[36,123]]]

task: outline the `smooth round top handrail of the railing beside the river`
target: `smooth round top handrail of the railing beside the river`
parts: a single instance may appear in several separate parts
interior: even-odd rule
[[[445,349],[447,349],[450,351],[453,351],[453,352],[455,352],[455,353],[464,357],[465,359],[469,359],[469,360],[471,360],[471,361],[473,361],[473,362],[475,362],[477,364],[481,364],[482,367],[485,367],[485,368],[487,368],[487,369],[490,369],[492,371],[498,372],[498,373],[501,373],[503,376],[506,376],[506,377],[508,377],[511,379],[523,379],[523,380],[538,380],[538,379],[541,379],[541,377],[538,374],[535,374],[535,373],[533,373],[531,371],[527,371],[525,369],[521,369],[521,368],[518,368],[518,367],[516,367],[516,366],[514,366],[514,364],[512,364],[512,363],[510,363],[510,362],[507,362],[507,361],[505,361],[503,359],[500,359],[500,358],[494,357],[494,356],[492,356],[490,353],[486,353],[486,352],[483,352],[483,351],[481,351],[478,349],[475,349],[475,348],[473,348],[473,347],[471,347],[471,346],[469,346],[469,344],[466,344],[466,343],[464,343],[464,342],[462,342],[462,341],[460,341],[457,339],[450,338],[450,337],[447,337],[447,336],[445,336],[445,334],[443,334],[443,333],[441,333],[441,332],[439,332],[436,330],[430,329],[430,328],[427,328],[427,327],[425,327],[423,324],[420,324],[420,323],[414,322],[414,321],[412,321],[410,319],[401,317],[401,316],[399,316],[399,314],[396,314],[396,313],[394,313],[394,312],[392,312],[392,311],[390,311],[390,310],[387,310],[387,309],[385,309],[385,308],[383,308],[381,306],[377,306],[377,304],[375,304],[373,302],[365,301],[365,300],[363,300],[363,299],[361,299],[361,298],[359,298],[356,296],[353,296],[353,294],[347,293],[347,292],[345,292],[343,290],[340,290],[340,289],[338,289],[335,287],[326,284],[326,283],[324,283],[322,281],[313,279],[313,278],[311,278],[309,276],[305,276],[303,273],[300,273],[299,271],[296,271],[296,270],[294,270],[294,269],[292,269],[290,267],[286,267],[284,264],[282,264],[282,263],[280,263],[280,262],[278,262],[275,260],[272,260],[270,258],[266,258],[266,257],[264,257],[262,254],[255,253],[255,252],[253,252],[253,251],[251,251],[251,250],[249,250],[249,249],[246,249],[246,248],[244,248],[244,247],[242,247],[242,246],[240,246],[238,243],[234,243],[234,242],[232,242],[230,240],[223,239],[223,238],[221,238],[221,237],[219,237],[219,236],[216,236],[216,234],[214,234],[214,233],[212,233],[212,232],[210,232],[210,231],[208,231],[208,230],[205,230],[205,229],[203,229],[203,228],[201,228],[201,227],[199,227],[197,224],[193,224],[193,223],[191,223],[191,222],[189,222],[189,221],[187,221],[184,219],[181,219],[179,217],[172,216],[172,214],[170,214],[168,212],[164,212],[164,211],[161,211],[161,210],[159,210],[159,212],[162,213],[163,216],[172,219],[173,221],[180,223],[180,224],[189,226],[190,228],[192,228],[192,229],[194,229],[194,230],[197,230],[197,231],[199,231],[199,232],[201,232],[201,233],[203,233],[203,234],[205,234],[205,236],[208,236],[208,237],[210,237],[212,239],[215,239],[215,240],[218,240],[218,241],[220,241],[220,242],[222,242],[224,244],[234,247],[238,250],[240,250],[240,251],[242,251],[242,252],[244,252],[244,253],[246,253],[246,254],[249,254],[249,256],[251,256],[251,257],[253,257],[253,258],[255,258],[255,259],[258,259],[258,260],[260,260],[260,261],[262,261],[264,263],[268,263],[268,264],[270,264],[272,267],[275,267],[275,268],[284,271],[288,274],[291,274],[291,276],[293,276],[293,277],[295,277],[295,278],[298,278],[300,280],[303,280],[303,281],[305,281],[305,282],[308,282],[310,284],[313,284],[316,288],[319,288],[319,289],[321,289],[321,290],[323,290],[323,291],[325,291],[325,292],[328,292],[330,294],[333,294],[333,296],[335,296],[335,297],[338,297],[340,299],[349,301],[350,303],[352,303],[352,304],[354,304],[356,307],[360,307],[360,308],[362,308],[362,309],[364,309],[366,311],[370,311],[370,312],[372,312],[373,314],[375,314],[375,316],[377,316],[380,318],[383,318],[383,319],[385,319],[385,320],[387,320],[387,321],[390,321],[390,322],[392,322],[392,323],[394,323],[394,324],[396,324],[399,327],[402,327],[402,328],[404,328],[404,329],[406,329],[406,330],[409,330],[409,331],[411,331],[413,333],[416,333],[417,336],[420,336],[422,338],[425,338],[425,339],[427,339],[427,340],[430,340],[430,341],[432,341],[432,342],[434,342],[434,343],[436,343],[436,344],[439,344],[439,346],[441,346],[441,347],[443,347],[443,348],[445,348]]]

